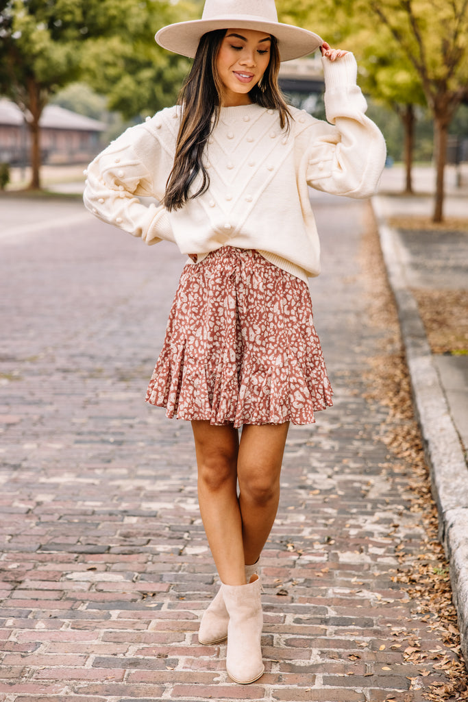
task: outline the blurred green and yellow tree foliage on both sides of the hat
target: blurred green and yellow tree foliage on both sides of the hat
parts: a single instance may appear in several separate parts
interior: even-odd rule
[[[449,131],[468,134],[466,0],[276,0],[276,6],[280,21],[354,52],[368,114],[394,160],[410,154],[411,161],[426,161]],[[203,0],[0,0],[0,94],[16,102],[33,135],[53,100],[104,119],[106,137],[113,137],[174,104],[190,62],[159,48],[154,34],[199,18],[202,8]],[[323,100],[314,112],[324,116]]]

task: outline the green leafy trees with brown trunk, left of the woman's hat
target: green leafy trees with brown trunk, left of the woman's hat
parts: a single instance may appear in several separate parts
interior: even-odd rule
[[[173,100],[187,62],[156,47],[154,32],[189,11],[192,4],[171,0],[0,0],[0,94],[20,107],[32,134],[30,187],[40,187],[44,107],[83,67],[126,116]]]

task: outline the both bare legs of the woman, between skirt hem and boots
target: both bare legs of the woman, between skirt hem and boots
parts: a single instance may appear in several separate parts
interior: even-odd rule
[[[244,564],[258,560],[272,529],[288,428],[244,425],[239,445],[232,425],[192,422],[201,519],[225,585],[246,583]]]

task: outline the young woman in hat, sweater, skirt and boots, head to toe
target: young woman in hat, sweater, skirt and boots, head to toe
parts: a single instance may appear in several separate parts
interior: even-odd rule
[[[201,20],[164,27],[156,41],[194,58],[179,105],[93,161],[84,201],[147,244],[168,239],[189,256],[147,402],[192,422],[222,583],[199,640],[227,637],[227,672],[248,683],[265,669],[258,559],[288,425],[332,404],[307,286],[319,274],[308,186],[372,194],[385,145],[364,114],[353,56],[280,24],[274,0],[206,0]],[[288,107],[277,82],[281,60],[319,47],[328,122]]]

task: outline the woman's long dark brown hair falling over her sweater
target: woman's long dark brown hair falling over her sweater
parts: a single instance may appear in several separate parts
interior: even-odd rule
[[[163,204],[168,209],[182,208],[188,199],[199,197],[208,190],[210,177],[203,164],[203,150],[215,128],[222,105],[224,86],[218,74],[216,59],[227,29],[215,29],[201,37],[190,70],[178,98],[182,116],[175,147],[174,165],[166,184]],[[252,102],[261,107],[278,110],[281,129],[290,128],[290,112],[278,85],[280,65],[278,41],[272,36],[270,60],[260,84],[248,93]],[[215,119],[213,119],[213,115]],[[198,174],[202,182],[199,190],[189,194]]]

